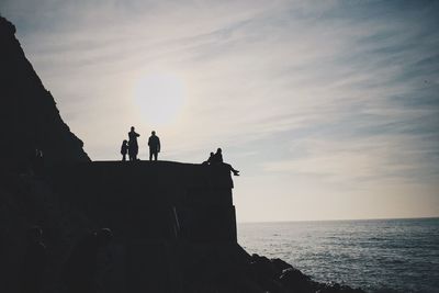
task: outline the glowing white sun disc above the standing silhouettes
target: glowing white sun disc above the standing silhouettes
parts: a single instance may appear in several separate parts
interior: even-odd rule
[[[154,125],[172,122],[184,102],[184,84],[172,75],[147,75],[138,80],[136,102],[140,114]]]

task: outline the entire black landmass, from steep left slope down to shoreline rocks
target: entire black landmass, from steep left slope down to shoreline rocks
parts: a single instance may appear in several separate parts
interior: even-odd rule
[[[94,292],[362,292],[312,281],[282,260],[248,255],[236,237],[224,166],[91,162],[0,18],[0,291],[20,289],[27,227],[43,228],[42,292],[67,292],[65,263],[81,237],[109,227]],[[36,166],[27,156],[44,151]],[[37,168],[36,168],[37,167]]]

